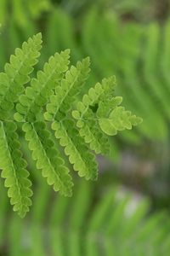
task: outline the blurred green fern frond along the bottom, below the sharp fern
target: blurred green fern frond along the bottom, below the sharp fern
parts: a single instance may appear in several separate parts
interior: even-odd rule
[[[40,181],[40,180],[39,180]],[[4,195],[0,186],[1,195]],[[99,193],[100,191],[100,193]],[[95,193],[94,193],[95,192]],[[71,199],[49,194],[37,185],[28,218],[8,216],[8,202],[0,201],[0,253],[3,255],[168,255],[169,218],[149,215],[147,198],[121,186],[97,189],[77,183]],[[49,211],[50,208],[50,211]],[[8,247],[7,247],[8,245]]]

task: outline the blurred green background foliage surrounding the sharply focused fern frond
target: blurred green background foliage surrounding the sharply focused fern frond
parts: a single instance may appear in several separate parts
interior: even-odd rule
[[[103,210],[104,212],[101,214],[106,214],[106,217],[99,219],[99,225],[101,224],[101,227],[97,226],[95,232],[89,228],[86,233],[88,234],[89,231],[93,234],[101,233],[104,237],[108,236],[108,234],[105,235],[105,232],[107,233],[108,231],[107,228],[105,232],[103,231],[105,230],[103,227],[108,225],[108,223],[106,224],[107,216],[115,216],[114,214],[118,214],[119,218],[115,217],[115,222],[113,221],[112,223],[113,228],[110,230],[110,236],[116,237],[116,230],[120,230],[120,236],[116,237],[116,243],[121,243],[124,247],[122,246],[122,251],[119,253],[113,254],[112,248],[108,245],[108,240],[104,239],[108,245],[106,248],[109,248],[107,249],[108,254],[105,255],[142,255],[142,248],[139,253],[137,253],[138,250],[136,251],[136,249],[133,248],[133,254],[131,246],[135,243],[137,248],[139,244],[140,247],[149,247],[148,242],[150,240],[148,237],[150,234],[154,234],[155,231],[159,234],[159,239],[153,238],[153,244],[152,241],[150,241],[150,248],[154,247],[155,249],[153,249],[153,251],[150,249],[150,254],[148,255],[161,255],[163,249],[161,247],[161,251],[159,251],[158,247],[161,245],[162,241],[167,242],[165,247],[163,247],[165,249],[163,255],[168,255],[168,239],[170,239],[170,235],[168,236],[167,230],[164,230],[161,225],[165,224],[166,221],[168,227],[169,213],[164,214],[163,212],[168,212],[170,207],[169,0],[1,0],[0,23],[1,71],[3,70],[4,63],[8,61],[9,55],[14,52],[14,49],[20,47],[20,44],[28,37],[41,31],[44,43],[38,68],[42,67],[42,62],[47,61],[48,56],[54,55],[55,51],[70,48],[71,58],[74,63],[87,55],[91,58],[92,73],[87,86],[95,84],[95,82],[104,77],[108,77],[112,74],[116,75],[116,95],[123,96],[125,107],[142,117],[144,122],[142,125],[133,129],[133,131],[123,131],[116,139],[113,137],[111,140],[111,155],[105,157],[105,159],[99,157],[100,175],[98,184],[81,185],[82,183],[80,183],[77,185],[84,188],[82,192],[80,192],[82,198],[87,195],[87,209],[84,210],[85,212],[82,211],[80,213],[80,216],[83,217],[81,217],[80,220],[82,230],[86,229],[86,225],[83,222],[88,223],[91,221],[91,218],[93,218],[94,208],[99,204],[102,205],[105,198],[110,197],[111,193],[107,192],[103,201],[100,199],[103,198],[102,196],[105,189],[106,191],[113,191],[113,188],[116,188],[118,193],[120,193],[120,191],[124,193],[124,196],[120,197],[119,200],[122,206],[122,210],[119,211],[122,211],[122,213],[120,215],[119,213],[114,213],[114,211],[116,211],[115,201],[109,201],[108,207],[111,203],[115,207],[113,207],[109,213],[105,213],[107,208],[107,206],[105,206],[105,211]],[[29,159],[29,156],[27,156],[27,158]],[[52,226],[54,225],[54,221],[57,222],[56,225],[59,223],[60,230],[60,224],[62,227],[65,227],[63,220],[60,219],[62,218],[63,205],[67,203],[71,205],[71,202],[73,202],[73,205],[77,205],[75,208],[77,212],[80,211],[82,205],[80,200],[77,202],[74,197],[71,200],[57,197],[55,200],[54,195],[49,195],[50,192],[48,188],[45,189],[45,186],[43,186],[42,183],[40,184],[38,175],[35,176],[33,173],[33,166],[30,166],[30,170],[32,179],[35,180],[35,189],[37,189],[32,212],[29,216],[29,218],[34,219],[32,229],[37,228],[37,230],[33,230],[33,232],[35,231],[34,237],[36,237],[39,227],[42,223],[45,224],[47,222],[47,207],[51,209],[50,214],[56,214],[56,216],[58,216],[56,213],[58,212],[57,209],[61,207],[61,210],[59,210],[59,212],[61,212],[58,212],[58,214],[60,214],[59,217],[55,217],[56,219],[54,218],[55,220],[53,219],[50,222]],[[117,189],[117,184],[119,189]],[[89,187],[93,189],[89,190]],[[136,213],[140,218],[129,218],[133,219],[131,220],[131,225],[129,224],[127,228],[129,233],[126,231],[126,224],[124,224],[124,220],[126,222],[125,215],[127,210],[125,207],[126,204],[123,203],[128,197],[128,189],[131,190],[130,194],[133,195],[132,198],[139,198],[139,195],[142,199],[144,197],[144,205],[143,202],[140,203],[138,200],[131,199],[137,209],[138,206],[142,208],[147,204],[144,210],[139,210],[140,213]],[[79,193],[77,191],[76,189],[75,194]],[[2,190],[2,193],[5,192]],[[91,199],[90,203],[88,197]],[[57,205],[57,207],[49,206],[49,198],[53,201],[54,205],[58,203],[60,205]],[[21,227],[23,222],[13,216],[14,213],[7,213],[8,203],[2,201],[1,204],[0,225],[2,225],[3,228],[0,230],[0,239],[2,241],[0,243],[0,252],[2,248],[2,255],[23,255],[25,251],[22,251],[20,242],[16,242],[16,237],[18,236],[10,236],[10,234],[12,234],[10,230],[8,231],[8,235],[6,234],[5,236],[3,232],[5,230],[4,225],[8,225],[9,223],[11,229],[18,229],[21,234],[23,232],[24,234],[27,234],[26,232],[32,232],[31,228],[30,230],[26,230],[28,220],[24,223],[25,227]],[[128,201],[127,205],[131,206],[132,204]],[[133,207],[131,210],[133,216],[136,210],[133,209]],[[76,214],[76,210],[73,212],[70,213],[71,216]],[[102,212],[102,207],[99,212]],[[77,214],[75,216],[77,216]],[[98,213],[95,213],[95,216],[97,216],[97,214]],[[11,215],[12,217],[8,218]],[[146,216],[148,218],[147,220],[145,220]],[[147,221],[153,224],[148,224],[148,226],[146,224],[148,233],[146,232],[144,233],[145,235],[140,235],[144,237],[144,239],[141,237],[139,239],[138,236],[133,237],[133,229],[136,230],[134,231],[136,234],[143,234],[142,231],[141,233],[139,231],[141,219],[143,218],[144,220],[142,221],[144,221],[144,224],[147,223]],[[4,219],[6,219],[6,222]],[[8,219],[10,219],[9,223]],[[130,223],[129,219],[127,223]],[[157,224],[157,219],[159,219],[161,224]],[[75,220],[71,221],[76,223]],[[142,223],[142,225],[144,224]],[[66,222],[66,226],[71,229],[72,225],[74,224],[70,224],[69,222],[67,224]],[[17,226],[20,228],[16,228]],[[73,227],[73,230],[76,231],[71,233],[71,237],[69,236],[67,241],[69,242],[71,239],[69,243],[72,242],[73,245],[75,245],[75,247],[73,246],[71,249],[74,253],[63,253],[65,250],[62,244],[60,244],[60,242],[62,243],[63,241],[59,241],[58,247],[60,247],[61,250],[59,256],[82,255],[79,253],[82,251],[77,251],[82,250],[80,248],[77,249],[79,228],[80,226],[76,228]],[[42,226],[41,229],[42,232],[45,232]],[[56,232],[55,236],[59,236],[59,230],[54,230],[54,233]],[[54,233],[49,236],[54,236]],[[28,236],[30,237],[31,235],[29,234]],[[86,237],[89,235],[87,234]],[[126,240],[127,234],[130,234],[129,241]],[[13,248],[11,251],[7,248],[8,243],[3,241],[3,238],[6,236],[9,236],[8,242],[9,244],[11,243],[11,247]],[[45,237],[45,235],[42,236]],[[91,235],[89,235],[89,237],[91,237]],[[99,237],[97,238],[98,241],[100,241]],[[94,240],[95,239],[96,238],[94,238]],[[26,242],[27,241],[22,241],[24,244],[26,244]],[[31,243],[31,241],[28,241],[28,243],[29,242]],[[15,245],[15,243],[17,245]],[[56,245],[54,244],[53,247],[56,247]],[[92,239],[92,244],[89,246],[87,255],[99,255],[99,252],[93,251],[93,247]],[[102,242],[101,247],[105,247]],[[131,253],[127,253],[126,248],[128,248]],[[34,253],[33,251],[31,251],[31,254],[26,254],[25,252],[25,255],[46,255],[44,252],[40,251],[41,245],[39,247],[37,245],[37,248],[35,247],[34,250]],[[7,252],[7,254],[4,254],[4,252]],[[77,252],[77,254],[75,252]]]

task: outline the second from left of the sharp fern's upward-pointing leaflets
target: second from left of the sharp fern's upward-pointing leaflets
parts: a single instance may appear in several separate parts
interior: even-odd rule
[[[16,105],[17,121],[35,121],[42,107],[47,104],[48,97],[54,94],[54,89],[59,85],[63,74],[68,69],[70,50],[56,53],[45,63],[43,71],[37,73],[37,79],[31,79],[31,86],[26,88],[25,94],[20,96],[20,103]]]

